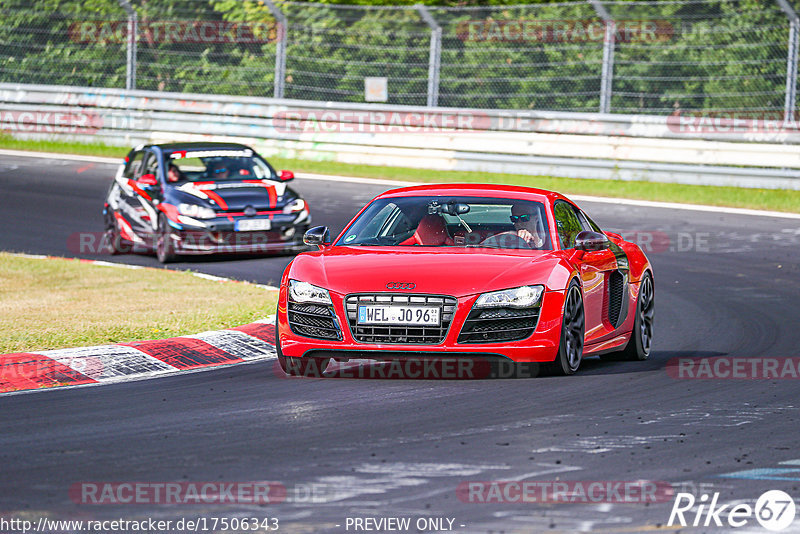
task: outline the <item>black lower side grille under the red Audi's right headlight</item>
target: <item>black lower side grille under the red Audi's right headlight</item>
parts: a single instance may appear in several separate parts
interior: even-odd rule
[[[539,321],[539,309],[473,308],[461,327],[458,343],[498,343],[530,337]]]

